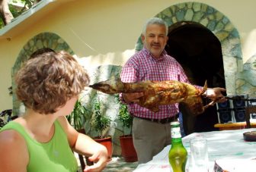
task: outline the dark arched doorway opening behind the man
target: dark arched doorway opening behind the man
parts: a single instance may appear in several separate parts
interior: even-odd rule
[[[184,68],[190,83],[208,87],[226,88],[219,39],[200,23],[178,22],[169,27],[168,43],[165,50]],[[217,130],[216,105],[206,109],[203,114],[193,117],[181,105],[186,134]]]

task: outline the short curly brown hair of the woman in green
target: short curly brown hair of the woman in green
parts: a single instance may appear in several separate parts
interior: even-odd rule
[[[88,86],[89,77],[67,52],[31,58],[16,75],[18,99],[40,114],[52,114]]]

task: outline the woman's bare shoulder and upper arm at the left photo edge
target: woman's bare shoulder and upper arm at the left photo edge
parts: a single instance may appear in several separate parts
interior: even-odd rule
[[[0,133],[0,171],[26,172],[29,155],[24,138],[14,130]]]

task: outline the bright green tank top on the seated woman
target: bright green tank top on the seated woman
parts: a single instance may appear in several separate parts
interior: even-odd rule
[[[46,143],[37,142],[32,139],[24,127],[14,121],[9,122],[3,130],[16,130],[27,142],[29,152],[29,164],[27,172],[76,172],[78,164],[69,147],[66,133],[56,120],[54,123],[55,133],[53,138]]]

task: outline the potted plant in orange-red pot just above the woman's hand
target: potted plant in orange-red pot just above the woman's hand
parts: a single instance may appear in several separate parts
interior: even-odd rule
[[[94,117],[92,119],[92,127],[98,132],[98,136],[94,137],[96,142],[101,143],[107,148],[108,161],[112,159],[112,138],[111,136],[104,136],[104,130],[110,126],[110,117],[104,115],[101,111],[101,101],[96,99],[94,102]]]

